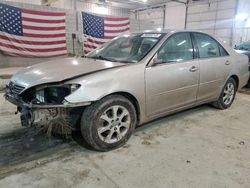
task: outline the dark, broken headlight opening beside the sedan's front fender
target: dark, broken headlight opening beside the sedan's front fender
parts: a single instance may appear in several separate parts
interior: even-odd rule
[[[79,84],[38,87],[35,90],[33,102],[37,104],[62,104],[64,98],[79,87]]]

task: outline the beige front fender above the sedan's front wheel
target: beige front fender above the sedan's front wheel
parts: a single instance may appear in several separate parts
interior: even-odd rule
[[[65,99],[69,103],[94,102],[113,93],[127,93],[137,100],[141,119],[146,120],[144,70],[142,63],[129,64],[69,80],[66,83],[80,83],[83,87]]]

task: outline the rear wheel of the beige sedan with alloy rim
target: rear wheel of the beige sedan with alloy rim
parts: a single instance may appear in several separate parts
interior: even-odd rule
[[[222,89],[219,99],[213,103],[213,106],[221,110],[229,108],[234,101],[236,91],[237,91],[237,84],[235,80],[233,78],[229,78],[227,83]]]

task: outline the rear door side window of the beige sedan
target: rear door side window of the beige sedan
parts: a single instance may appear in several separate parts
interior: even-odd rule
[[[200,58],[220,56],[220,50],[217,41],[201,33],[194,33],[194,37],[197,42]]]

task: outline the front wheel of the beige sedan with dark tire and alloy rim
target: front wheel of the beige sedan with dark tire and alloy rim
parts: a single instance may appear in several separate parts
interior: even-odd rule
[[[81,132],[93,149],[109,151],[127,142],[136,122],[133,104],[121,95],[110,95],[86,107]]]

